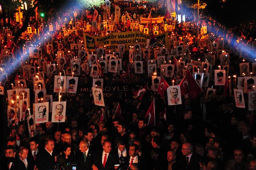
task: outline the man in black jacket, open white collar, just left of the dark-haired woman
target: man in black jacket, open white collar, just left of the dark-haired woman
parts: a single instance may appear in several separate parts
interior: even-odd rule
[[[36,168],[38,170],[49,170],[53,169],[55,159],[54,140],[46,139],[44,142],[44,149],[40,150],[36,155]]]

